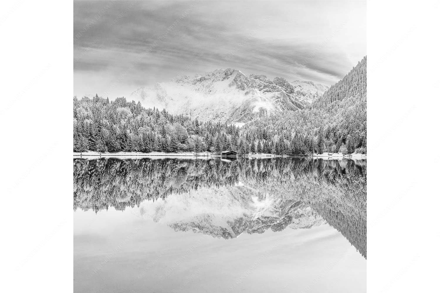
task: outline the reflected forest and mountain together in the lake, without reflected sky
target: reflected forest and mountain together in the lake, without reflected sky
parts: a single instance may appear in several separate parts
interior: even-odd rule
[[[224,239],[328,223],[367,258],[366,159],[73,159],[74,210],[134,206]]]

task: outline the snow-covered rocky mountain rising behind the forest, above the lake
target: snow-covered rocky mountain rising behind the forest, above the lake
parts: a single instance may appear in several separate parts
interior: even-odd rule
[[[177,76],[154,87],[141,87],[129,98],[147,108],[165,108],[202,121],[246,123],[260,115],[303,109],[327,89],[311,81],[270,80],[228,68],[194,77]]]

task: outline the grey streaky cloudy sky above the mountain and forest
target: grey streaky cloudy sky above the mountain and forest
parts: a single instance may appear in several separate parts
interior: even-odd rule
[[[74,1],[74,94],[215,69],[332,85],[367,54],[364,1]]]

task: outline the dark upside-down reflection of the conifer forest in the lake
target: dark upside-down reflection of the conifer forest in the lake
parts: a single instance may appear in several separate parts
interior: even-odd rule
[[[98,212],[113,206],[124,210],[144,200],[226,186],[240,201],[274,196],[280,208],[310,206],[366,256],[366,160],[238,158],[227,163],[220,159],[74,159],[73,166],[74,209]],[[234,188],[238,182],[242,187]],[[219,194],[224,196],[224,190],[219,189]],[[275,225],[274,231],[292,223],[288,211],[280,215],[283,223]]]

